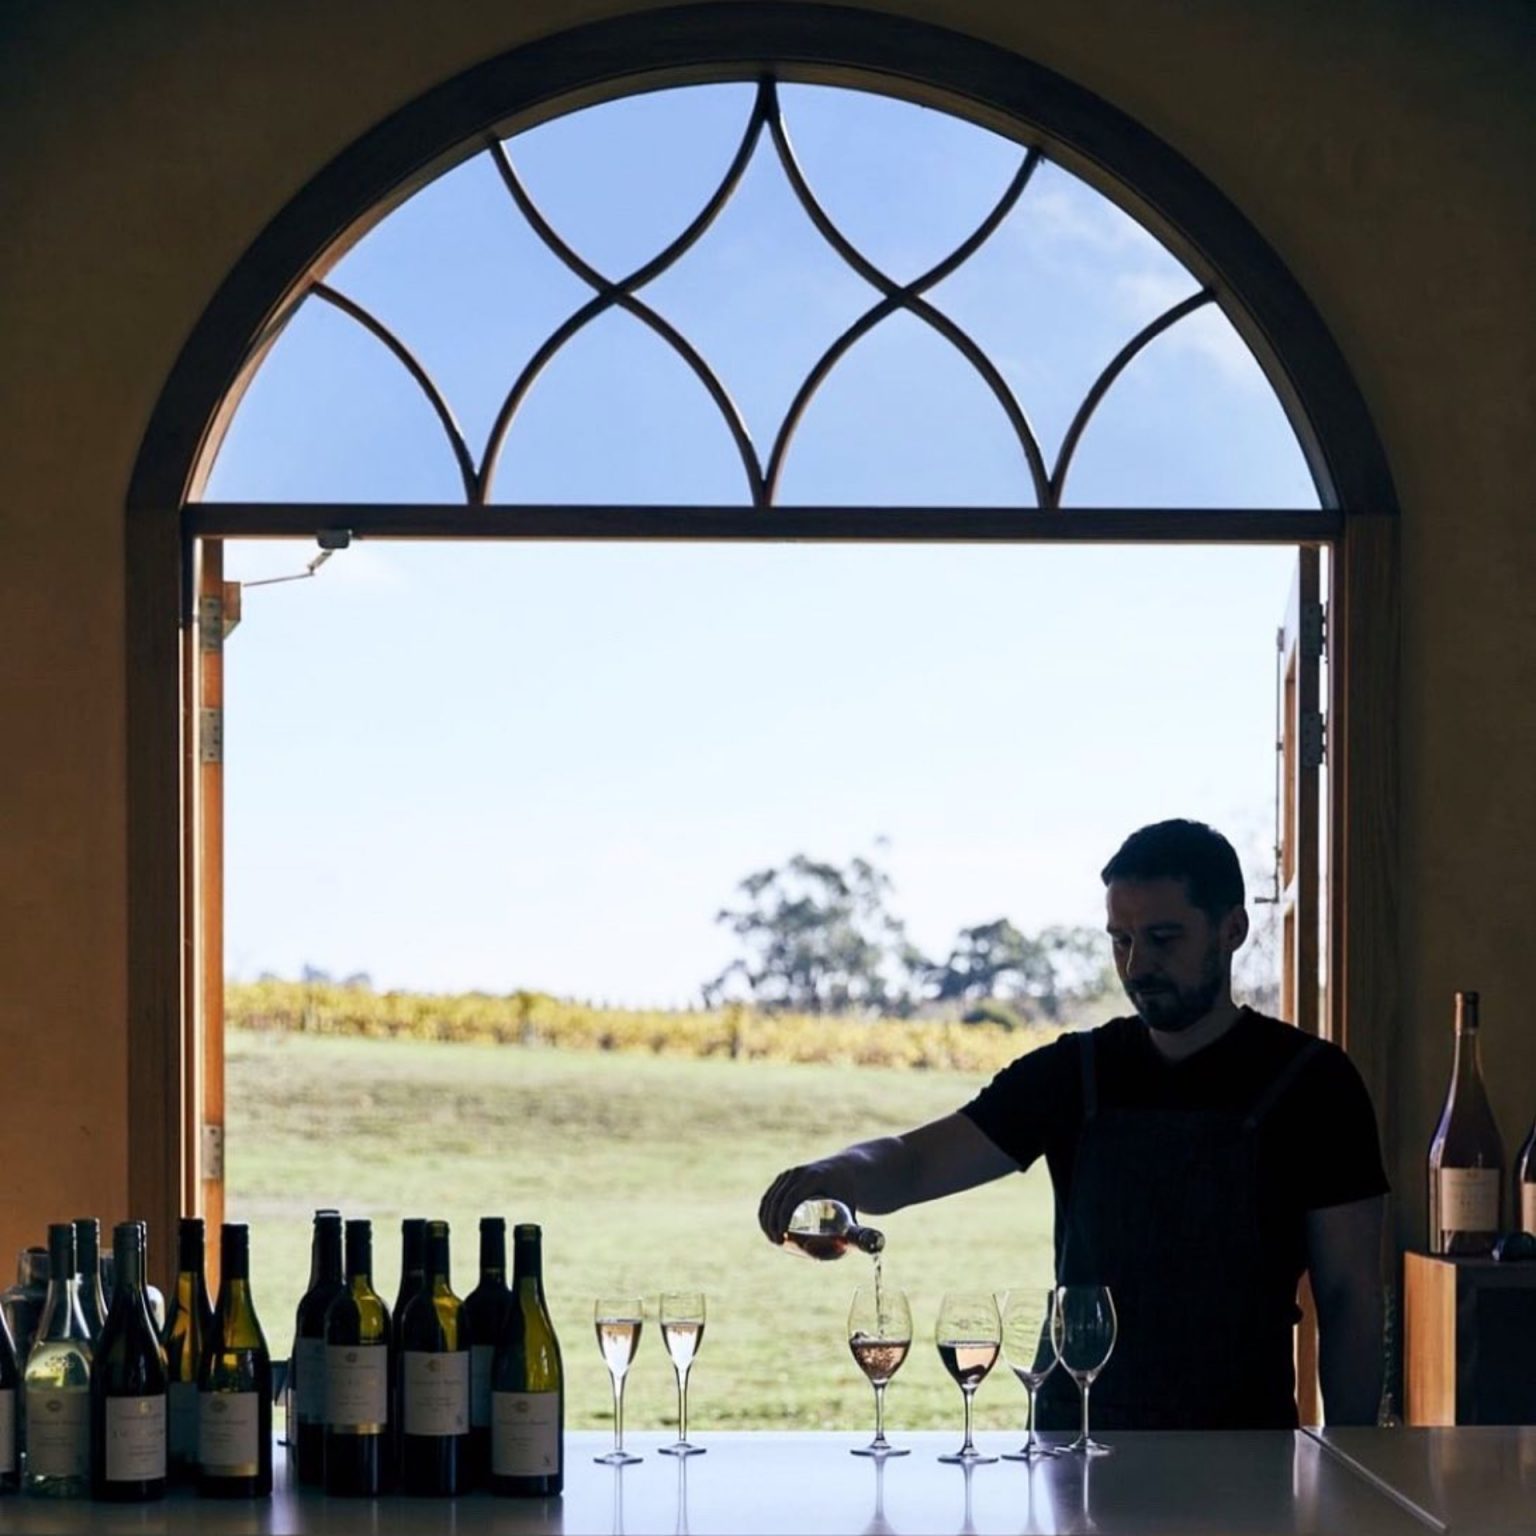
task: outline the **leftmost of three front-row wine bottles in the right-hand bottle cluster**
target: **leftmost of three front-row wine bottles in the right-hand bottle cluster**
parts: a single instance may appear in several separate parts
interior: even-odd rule
[[[373,1226],[347,1223],[347,1276],[326,1309],[327,1493],[384,1491],[389,1456],[390,1319],[373,1289]]]

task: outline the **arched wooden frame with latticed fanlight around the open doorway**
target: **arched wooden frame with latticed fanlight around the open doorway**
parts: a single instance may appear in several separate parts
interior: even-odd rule
[[[849,91],[854,141],[825,132]],[[584,223],[604,200],[610,246]],[[392,241],[419,255],[393,289],[370,269]],[[289,370],[329,381],[326,409],[293,409]],[[412,435],[427,452],[398,452]],[[169,1227],[217,1152],[217,912],[181,892],[210,820],[197,599],[221,539],[1326,547],[1326,1017],[1385,1111],[1393,510],[1349,369],[1261,235],[1014,54],[868,9],[710,5],[435,88],[229,273],[129,492],[132,1204]]]

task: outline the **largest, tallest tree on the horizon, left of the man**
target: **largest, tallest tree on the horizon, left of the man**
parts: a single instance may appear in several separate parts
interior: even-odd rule
[[[710,1006],[733,983],[770,1012],[906,1012],[909,982],[928,962],[886,911],[891,879],[868,859],[846,869],[796,854],[782,868],[740,882],[745,902],[725,908],[727,923],[748,954],[703,985]]]

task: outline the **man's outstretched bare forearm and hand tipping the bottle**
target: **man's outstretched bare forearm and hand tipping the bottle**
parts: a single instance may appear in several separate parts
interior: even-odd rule
[[[757,1224],[777,1243],[802,1200],[840,1200],[852,1210],[885,1215],[1017,1170],[1018,1164],[968,1117],[945,1115],[905,1135],[860,1141],[786,1169],[763,1192]]]

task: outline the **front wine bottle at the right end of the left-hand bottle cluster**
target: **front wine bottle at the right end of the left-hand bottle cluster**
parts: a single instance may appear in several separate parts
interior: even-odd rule
[[[198,1381],[198,1493],[264,1499],[272,1493],[272,1355],[250,1295],[250,1230],[220,1235],[218,1306]]]

